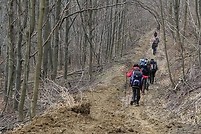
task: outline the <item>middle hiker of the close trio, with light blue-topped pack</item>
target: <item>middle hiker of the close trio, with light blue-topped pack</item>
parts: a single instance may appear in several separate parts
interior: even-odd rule
[[[149,89],[149,76],[150,76],[150,65],[148,59],[141,59],[140,60],[140,68],[142,70],[143,81],[142,81],[142,94],[145,93],[145,89]]]

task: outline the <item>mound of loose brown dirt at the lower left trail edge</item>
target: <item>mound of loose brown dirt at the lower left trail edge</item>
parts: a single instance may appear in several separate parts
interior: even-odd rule
[[[35,117],[30,124],[8,132],[8,134],[71,133],[77,129],[75,123],[85,124],[93,121],[90,116],[87,116],[89,112],[89,103],[78,104],[72,108],[61,105],[42,116]]]

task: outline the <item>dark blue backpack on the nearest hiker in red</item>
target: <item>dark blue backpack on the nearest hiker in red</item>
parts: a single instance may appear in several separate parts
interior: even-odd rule
[[[142,73],[139,70],[134,70],[131,77],[130,77],[130,85],[133,86],[140,86],[142,80]]]

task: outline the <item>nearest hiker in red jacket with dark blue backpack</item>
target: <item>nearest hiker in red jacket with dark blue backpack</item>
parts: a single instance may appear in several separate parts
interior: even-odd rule
[[[130,77],[130,86],[132,87],[133,96],[130,102],[136,106],[139,106],[140,90],[142,89],[142,72],[138,64],[134,64],[131,71],[127,73],[127,77]]]

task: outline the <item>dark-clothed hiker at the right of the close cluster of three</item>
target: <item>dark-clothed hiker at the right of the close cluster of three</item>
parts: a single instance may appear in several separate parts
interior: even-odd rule
[[[150,83],[154,83],[156,71],[158,70],[157,62],[154,59],[150,60]]]

